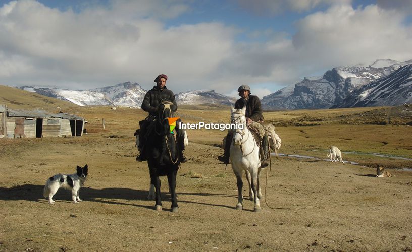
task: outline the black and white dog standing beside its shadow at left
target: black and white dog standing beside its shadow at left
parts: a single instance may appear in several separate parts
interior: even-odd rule
[[[72,191],[72,199],[74,203],[79,203],[79,190],[84,186],[84,181],[87,177],[87,164],[82,168],[77,166],[77,172],[70,175],[57,174],[49,177],[44,185],[43,196],[48,197],[48,203],[55,204],[53,196],[60,188]]]

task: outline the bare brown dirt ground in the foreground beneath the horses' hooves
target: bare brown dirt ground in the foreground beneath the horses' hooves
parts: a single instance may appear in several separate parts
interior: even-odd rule
[[[3,139],[0,153],[2,251],[412,250],[410,171],[376,178],[374,168],[280,157],[261,176],[271,208],[262,199],[262,211],[252,212],[244,186],[238,211],[231,166],[216,159],[222,150],[191,142],[172,213],[166,178],[164,211],[146,199],[147,163],[135,161],[132,136]],[[85,164],[83,201],[61,190],[48,204],[45,180]]]

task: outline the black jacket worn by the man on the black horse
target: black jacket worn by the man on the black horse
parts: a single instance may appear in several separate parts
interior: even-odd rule
[[[166,86],[163,89],[158,89],[158,86],[155,86],[147,91],[146,95],[144,96],[141,108],[144,111],[149,112],[149,115],[156,115],[156,109],[164,100],[173,102],[172,111],[176,112],[177,104],[175,101],[175,95],[171,90],[167,89]]]

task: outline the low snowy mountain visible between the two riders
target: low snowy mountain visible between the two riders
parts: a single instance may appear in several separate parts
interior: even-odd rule
[[[204,103],[230,105],[236,102],[234,97],[215,93],[213,89],[200,89],[181,92],[176,95],[177,104],[198,105]]]

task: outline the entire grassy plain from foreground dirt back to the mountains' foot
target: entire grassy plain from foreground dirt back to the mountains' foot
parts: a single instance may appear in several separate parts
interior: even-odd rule
[[[402,169],[412,168],[410,108],[265,111],[282,138],[280,153],[289,156],[272,159],[272,170],[263,172],[260,213],[252,212],[246,183],[245,210],[235,210],[236,179],[216,159],[226,132],[188,130],[188,162],[177,181],[180,209],[171,213],[167,180],[161,179],[164,211],[156,212],[146,200],[147,163],[135,161],[133,132],[146,114],[66,107],[86,118],[87,134],[0,139],[0,250],[410,251],[412,172]],[[176,116],[228,122],[229,111],[181,106]],[[360,165],[323,160],[331,145]],[[69,192],[59,191],[49,205],[45,180],[86,163],[83,202],[73,204]],[[376,178],[378,163],[395,177]]]

